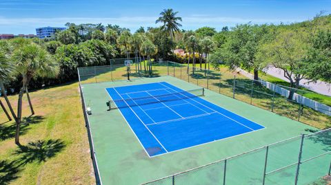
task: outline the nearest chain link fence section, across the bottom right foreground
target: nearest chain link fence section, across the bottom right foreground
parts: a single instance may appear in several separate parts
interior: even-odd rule
[[[330,169],[331,129],[325,129],[143,185],[327,184]]]

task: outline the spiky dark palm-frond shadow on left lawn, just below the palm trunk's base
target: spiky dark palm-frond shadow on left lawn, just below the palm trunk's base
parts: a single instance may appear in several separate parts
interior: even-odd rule
[[[14,151],[14,154],[21,155],[19,166],[28,164],[30,162],[46,162],[57,153],[63,151],[66,144],[62,140],[37,140],[36,142],[29,142],[26,146],[19,146]]]

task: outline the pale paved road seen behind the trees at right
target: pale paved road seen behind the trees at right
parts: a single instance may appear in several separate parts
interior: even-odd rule
[[[264,70],[264,71],[267,74],[270,74],[271,76],[281,78],[282,80],[290,82],[290,80],[288,80],[288,78],[284,77],[284,72],[281,69],[278,69],[276,67],[269,67],[267,70]],[[331,96],[331,84],[330,83],[325,83],[320,80],[317,80],[316,83],[309,83],[309,80],[302,79],[302,80],[300,80],[300,86],[310,89],[311,91],[315,91],[319,94]]]

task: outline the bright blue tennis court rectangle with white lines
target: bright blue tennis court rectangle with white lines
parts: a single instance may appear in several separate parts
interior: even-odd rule
[[[106,91],[150,157],[264,128],[165,82]]]

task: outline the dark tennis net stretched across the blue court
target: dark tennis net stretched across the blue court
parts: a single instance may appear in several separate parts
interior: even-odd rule
[[[160,94],[156,96],[109,100],[106,104],[108,106],[108,111],[110,111],[111,109],[119,109],[123,107],[134,107],[134,106],[148,105],[158,102],[190,99],[197,96],[204,96],[204,94],[205,94],[205,89],[200,88],[200,89],[192,89],[188,91],[177,91],[169,94]]]

